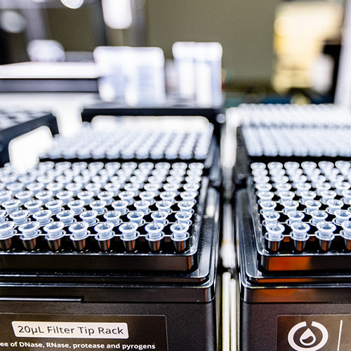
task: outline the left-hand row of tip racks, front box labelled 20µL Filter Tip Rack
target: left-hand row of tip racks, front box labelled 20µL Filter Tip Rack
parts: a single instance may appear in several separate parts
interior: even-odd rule
[[[33,168],[0,168],[5,336],[47,350],[216,350],[218,145],[211,124],[181,124],[84,126]],[[63,322],[67,335],[51,329]]]

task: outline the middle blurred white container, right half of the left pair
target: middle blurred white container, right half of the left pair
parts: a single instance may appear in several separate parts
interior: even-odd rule
[[[161,105],[166,99],[164,52],[161,48],[130,48],[125,66],[127,105]]]

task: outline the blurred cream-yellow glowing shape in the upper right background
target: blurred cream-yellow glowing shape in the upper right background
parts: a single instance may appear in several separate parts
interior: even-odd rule
[[[311,86],[311,67],[324,41],[340,37],[343,11],[342,5],[325,1],[293,2],[277,8],[272,79],[277,91]]]

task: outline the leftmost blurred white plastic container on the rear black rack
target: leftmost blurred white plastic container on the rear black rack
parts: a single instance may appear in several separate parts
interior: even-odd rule
[[[94,60],[98,69],[99,95],[104,101],[124,101],[126,77],[124,66],[128,59],[128,46],[98,46]]]

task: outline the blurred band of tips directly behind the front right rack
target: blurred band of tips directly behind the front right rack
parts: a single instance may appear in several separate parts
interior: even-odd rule
[[[350,126],[244,126],[251,157],[351,157]]]

